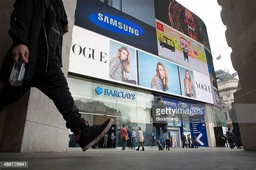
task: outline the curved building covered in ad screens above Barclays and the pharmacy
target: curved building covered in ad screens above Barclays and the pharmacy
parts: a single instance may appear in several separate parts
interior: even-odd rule
[[[204,104],[213,104],[205,54],[208,39],[199,42],[163,22],[161,18],[170,13],[160,15],[159,8],[171,8],[171,3],[184,8],[176,1],[166,6],[157,1],[145,6],[137,1],[133,5],[109,2],[77,1],[68,83],[82,116],[90,125],[114,119],[106,147],[122,145],[123,125],[130,136],[128,146],[132,129],[137,132],[138,126],[145,146],[156,146],[151,107],[161,95],[174,110],[184,105],[202,110],[201,114],[173,115],[168,122],[173,146],[180,146],[182,133],[200,136],[201,145],[208,146]],[[138,15],[133,7],[148,15]],[[97,147],[103,143],[100,140]],[[78,147],[72,132],[69,147]]]

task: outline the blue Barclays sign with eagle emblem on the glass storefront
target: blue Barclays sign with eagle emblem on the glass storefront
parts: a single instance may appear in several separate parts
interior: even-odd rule
[[[117,91],[117,90],[112,90],[112,89],[107,89],[107,88],[101,88],[101,87],[96,87],[95,92],[97,95],[106,95],[106,96],[112,96],[112,97],[118,97],[118,98],[126,98],[130,100],[135,100],[136,95],[132,93],[126,93],[124,91]]]

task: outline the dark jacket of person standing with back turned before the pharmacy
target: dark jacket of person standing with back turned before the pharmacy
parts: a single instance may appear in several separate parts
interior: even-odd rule
[[[157,121],[157,117],[160,117],[160,118],[166,118],[167,116],[166,115],[160,115],[160,116],[158,116],[157,115],[157,109],[160,109],[160,110],[162,110],[162,109],[164,109],[165,111],[166,111],[166,106],[165,106],[165,104],[163,103],[163,102],[161,102],[161,101],[157,101],[156,103],[154,103],[153,105],[152,105],[152,108],[151,108],[151,117],[152,117],[152,119],[153,119],[153,126],[156,126],[156,125],[165,125],[165,124],[167,124],[167,121]],[[161,112],[161,111],[160,111]],[[158,113],[159,113],[159,111],[158,111]]]

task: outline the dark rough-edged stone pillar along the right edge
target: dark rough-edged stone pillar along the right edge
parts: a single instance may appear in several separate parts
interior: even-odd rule
[[[221,19],[226,25],[227,44],[232,48],[231,61],[237,70],[240,88],[234,93],[235,104],[256,104],[256,55],[254,0],[218,0]],[[253,105],[251,105],[253,107]],[[255,108],[255,106],[254,106]],[[242,144],[245,150],[256,150],[256,110],[237,112]],[[247,119],[247,120],[246,120]]]

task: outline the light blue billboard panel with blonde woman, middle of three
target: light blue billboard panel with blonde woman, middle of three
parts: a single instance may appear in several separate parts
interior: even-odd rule
[[[180,95],[178,66],[138,51],[139,85]]]

